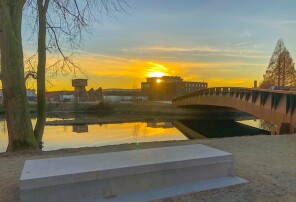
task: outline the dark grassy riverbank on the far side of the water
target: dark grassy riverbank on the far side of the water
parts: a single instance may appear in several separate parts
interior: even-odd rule
[[[32,117],[37,110],[36,103],[30,103]],[[4,114],[3,103],[0,103],[0,114]],[[230,118],[240,116],[250,116],[244,112],[225,107],[207,107],[195,106],[191,108],[178,108],[171,103],[166,102],[129,102],[129,103],[111,103],[111,102],[57,102],[47,103],[47,116],[67,117],[67,114],[92,114],[99,117],[108,115],[150,115],[150,116],[206,116],[212,117],[215,114],[227,116]],[[218,113],[218,114],[217,114]]]

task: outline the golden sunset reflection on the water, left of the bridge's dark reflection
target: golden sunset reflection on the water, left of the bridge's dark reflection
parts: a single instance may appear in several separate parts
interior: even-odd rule
[[[5,152],[8,135],[4,120],[0,120],[0,152]],[[43,150],[62,148],[92,147],[140,142],[186,140],[187,138],[176,128],[154,128],[145,122],[93,124],[93,125],[61,125],[45,126]],[[5,127],[3,127],[5,126]],[[81,135],[83,133],[83,135]]]

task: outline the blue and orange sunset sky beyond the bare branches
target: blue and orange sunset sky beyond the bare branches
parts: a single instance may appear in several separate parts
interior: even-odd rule
[[[296,57],[296,1],[127,0],[127,14],[103,18],[74,61],[98,88],[140,88],[148,76],[181,76],[209,87],[262,80],[279,38]],[[35,48],[23,37],[25,54]],[[66,47],[65,47],[66,49]],[[158,72],[158,73],[157,73]],[[72,73],[48,90],[70,90]],[[30,82],[28,87],[34,87]]]

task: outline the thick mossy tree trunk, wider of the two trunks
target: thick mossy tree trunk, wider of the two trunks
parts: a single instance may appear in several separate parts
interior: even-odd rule
[[[24,1],[17,0],[0,2],[1,74],[9,138],[7,151],[38,150],[24,82],[23,4]]]

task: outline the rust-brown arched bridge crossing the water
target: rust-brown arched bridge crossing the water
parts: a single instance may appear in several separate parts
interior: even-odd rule
[[[272,134],[296,133],[296,91],[216,87],[175,98],[173,104],[235,108],[275,124]]]

